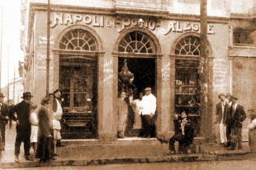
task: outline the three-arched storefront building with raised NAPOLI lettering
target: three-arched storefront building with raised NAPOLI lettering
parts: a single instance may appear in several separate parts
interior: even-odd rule
[[[65,2],[52,1],[50,25],[50,92],[62,90],[64,138],[117,139],[119,72],[125,62],[134,74],[133,89],[138,92],[148,86],[153,89],[158,133],[173,133],[172,114],[186,111],[196,135],[214,140],[219,93],[243,98],[245,92],[247,103],[241,100],[241,104],[246,109],[255,107],[255,99],[248,89],[237,88],[243,84],[238,80],[241,77],[237,77],[240,72],[237,69],[245,69],[250,76],[255,74],[251,65],[256,57],[255,44],[247,48],[254,52],[250,60],[237,56],[240,50],[236,49],[240,47],[231,46],[231,34],[232,26],[236,27],[238,21],[236,17],[230,18],[227,6],[218,11],[216,4],[210,2],[207,46],[212,84],[207,88],[212,89],[209,99],[212,105],[211,113],[202,113],[199,1]],[[32,91],[37,104],[46,93],[47,6],[44,3],[29,3],[24,35],[29,65],[25,91]],[[189,13],[177,14],[182,5]],[[250,17],[240,20],[252,26],[255,17]],[[243,66],[245,62],[250,68]],[[249,84],[252,79],[247,79]]]

